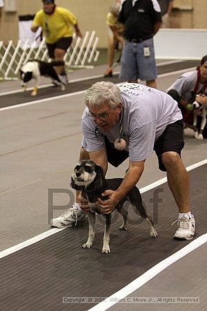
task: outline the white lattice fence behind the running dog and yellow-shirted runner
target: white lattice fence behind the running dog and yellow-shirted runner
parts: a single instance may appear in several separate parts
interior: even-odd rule
[[[91,62],[97,62],[99,57],[98,41],[95,31],[91,33],[87,31],[83,38],[76,37],[74,34],[72,44],[64,57],[66,68],[90,68]],[[34,41],[30,47],[28,41],[22,44],[19,40],[17,45],[12,40],[7,45],[0,41],[0,79],[17,79],[19,69],[29,59],[50,62],[45,38],[39,46]]]

